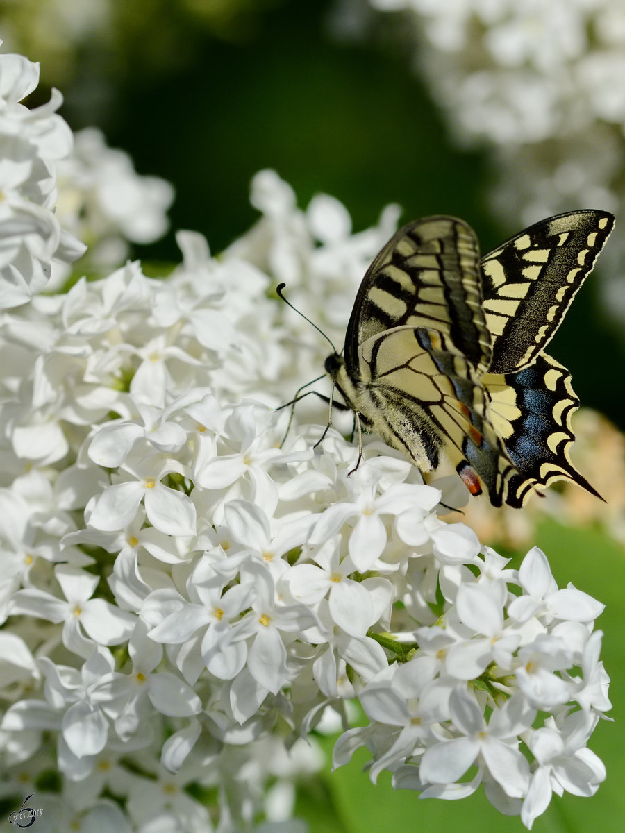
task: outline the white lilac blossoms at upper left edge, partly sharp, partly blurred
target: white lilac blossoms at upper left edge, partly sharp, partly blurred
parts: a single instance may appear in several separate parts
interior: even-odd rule
[[[104,273],[128,257],[128,242],[149,243],[168,228],[173,187],[140,177],[128,153],[87,128],[74,137],[57,109],[62,95],[28,109],[21,100],[39,65],[0,55],[0,308],[62,287],[89,246],[84,267]],[[104,271],[106,270],[106,271]]]

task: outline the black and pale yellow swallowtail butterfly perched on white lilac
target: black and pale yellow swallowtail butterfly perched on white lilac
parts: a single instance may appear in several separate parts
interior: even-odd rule
[[[482,258],[456,217],[400,229],[363,278],[343,354],[325,362],[358,436],[378,434],[424,472],[447,456],[493,506],[522,506],[557,480],[601,497],[570,461],[579,400],[544,349],[613,224],[602,211],[559,214]]]

